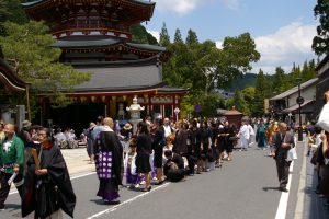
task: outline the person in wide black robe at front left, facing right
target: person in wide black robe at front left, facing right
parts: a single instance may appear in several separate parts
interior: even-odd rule
[[[60,149],[53,145],[47,128],[38,130],[38,141],[41,145],[34,146],[37,157],[27,161],[22,217],[35,211],[35,219],[47,218],[61,214],[61,209],[73,218],[76,195]]]

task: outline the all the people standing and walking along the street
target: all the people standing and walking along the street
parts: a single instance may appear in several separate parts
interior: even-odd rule
[[[329,197],[328,102],[319,122],[308,127],[311,162],[318,171],[317,193]],[[149,118],[149,117],[148,117]],[[76,195],[60,147],[55,145],[54,130],[23,122],[0,124],[0,209],[11,185],[21,200],[22,217],[61,218],[63,211],[73,218]],[[150,192],[163,182],[184,182],[194,174],[220,170],[235,160],[237,150],[246,153],[253,138],[257,148],[269,150],[276,164],[279,189],[287,191],[290,152],[296,146],[295,131],[284,122],[243,117],[230,124],[225,117],[174,120],[145,119],[133,126],[115,126],[111,117],[98,117],[87,134],[90,164],[95,165],[99,196],[104,205],[120,204],[120,188]],[[127,146],[125,145],[127,142]]]

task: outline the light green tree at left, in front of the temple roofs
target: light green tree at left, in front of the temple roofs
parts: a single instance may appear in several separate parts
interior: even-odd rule
[[[58,62],[61,51],[52,47],[55,39],[42,22],[31,21],[23,25],[5,22],[4,28],[8,35],[0,37],[0,44],[5,59],[25,82],[32,84],[33,94],[49,92],[54,95],[53,105],[58,107],[70,103],[60,91],[72,90],[88,81],[90,74]]]

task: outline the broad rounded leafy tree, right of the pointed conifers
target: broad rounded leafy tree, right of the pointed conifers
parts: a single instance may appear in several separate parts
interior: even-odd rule
[[[226,37],[223,49],[206,41],[196,53],[196,67],[203,74],[202,88],[209,92],[214,88],[228,88],[232,80],[251,70],[250,64],[258,61],[260,54],[249,33],[238,37]]]

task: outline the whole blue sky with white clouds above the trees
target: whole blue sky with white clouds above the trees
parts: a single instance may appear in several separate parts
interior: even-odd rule
[[[318,20],[314,16],[316,0],[151,0],[154,16],[143,23],[159,38],[163,23],[171,41],[177,28],[183,39],[193,30],[200,42],[211,39],[220,48],[226,36],[250,33],[261,54],[252,64],[252,73],[262,69],[273,74],[276,67],[288,73],[293,64],[318,59],[311,50]]]

